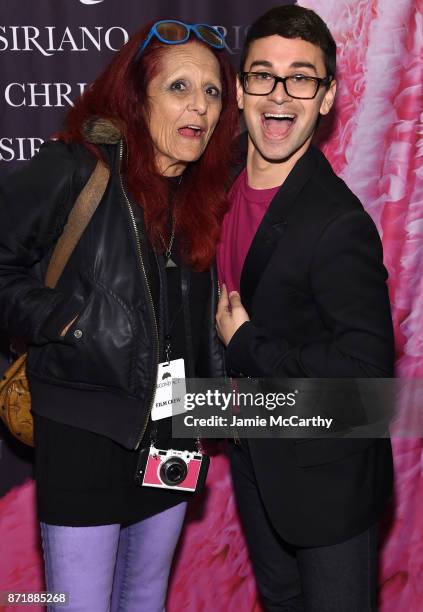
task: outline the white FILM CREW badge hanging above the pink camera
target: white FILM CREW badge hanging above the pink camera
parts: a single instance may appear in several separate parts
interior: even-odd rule
[[[184,360],[159,363],[151,419],[158,421],[185,412],[185,393]]]

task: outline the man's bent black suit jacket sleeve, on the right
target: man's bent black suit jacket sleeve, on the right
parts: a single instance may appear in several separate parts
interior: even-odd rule
[[[315,308],[326,330],[322,338],[293,346],[248,321],[227,347],[229,367],[252,377],[392,376],[386,279],[373,221],[363,211],[340,215],[322,232],[310,267]]]

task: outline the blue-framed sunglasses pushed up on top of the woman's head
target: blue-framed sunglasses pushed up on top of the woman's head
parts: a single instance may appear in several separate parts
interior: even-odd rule
[[[149,31],[147,38],[140,46],[140,49],[135,59],[138,59],[141,53],[144,51],[150,40],[155,36],[167,45],[180,45],[186,42],[191,32],[207,43],[211,47],[216,49],[223,49],[225,46],[225,39],[217,28],[213,28],[206,23],[197,23],[191,25],[190,23],[183,23],[182,21],[176,21],[174,19],[165,19],[162,21],[156,21]]]

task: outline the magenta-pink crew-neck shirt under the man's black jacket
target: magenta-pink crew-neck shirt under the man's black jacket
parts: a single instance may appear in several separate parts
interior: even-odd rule
[[[229,192],[231,207],[223,221],[217,247],[219,283],[228,292],[239,291],[241,272],[256,231],[279,187],[253,189],[247,182],[247,169],[241,172]]]

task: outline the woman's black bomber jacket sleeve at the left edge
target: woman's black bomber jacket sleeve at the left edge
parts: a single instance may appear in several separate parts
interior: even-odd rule
[[[34,268],[63,230],[75,167],[68,145],[48,142],[0,187],[0,328],[27,342],[47,342],[74,308]]]

